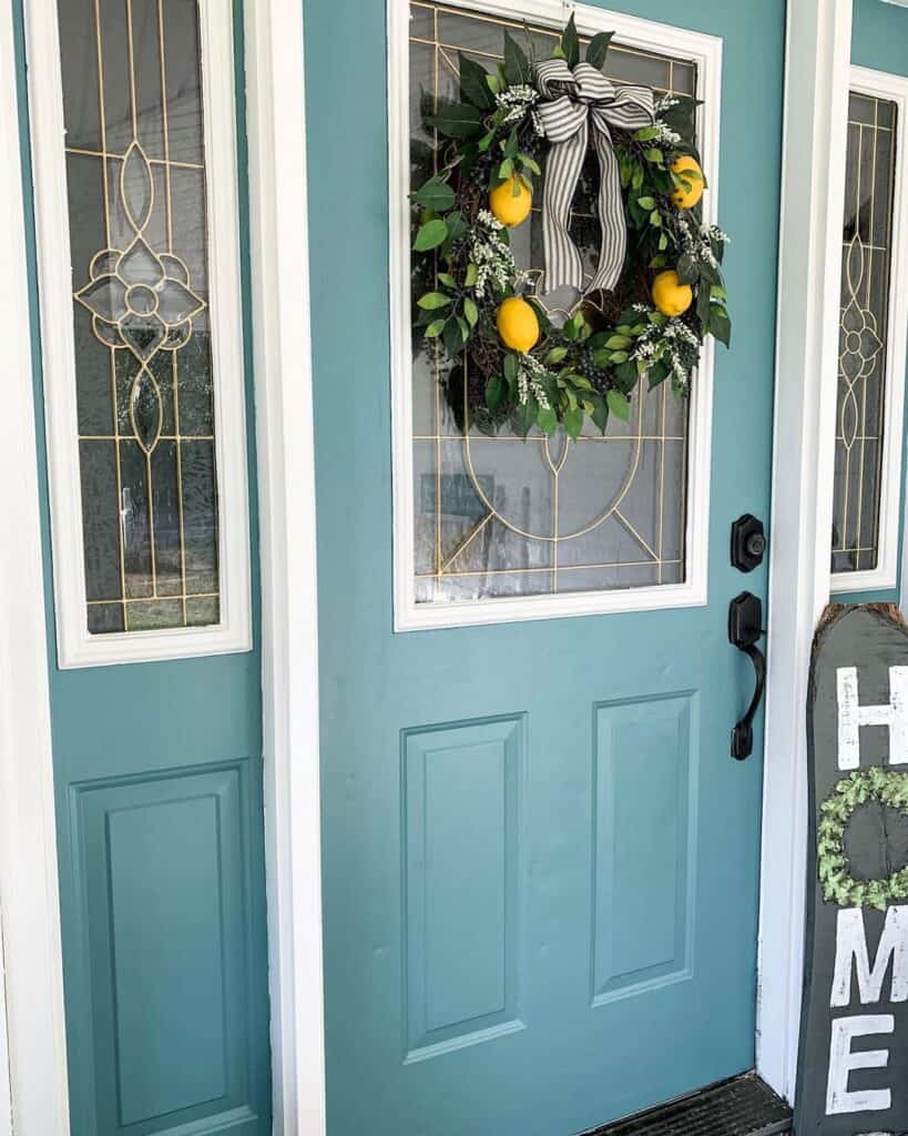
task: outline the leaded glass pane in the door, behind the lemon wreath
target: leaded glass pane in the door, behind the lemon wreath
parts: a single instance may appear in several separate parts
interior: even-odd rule
[[[457,97],[457,53],[487,69],[502,58],[507,20],[445,5],[414,2],[410,20],[411,177],[434,172],[435,137],[422,112]],[[530,26],[537,57],[556,34]],[[606,65],[616,83],[693,94],[696,68],[614,45]],[[599,249],[585,177],[574,200],[572,235],[585,260]],[[543,267],[537,204],[512,231],[521,267]],[[524,442],[507,429],[484,433],[470,421],[471,378],[437,345],[413,336],[413,466],[417,602],[564,594],[679,584],[684,580],[688,403],[667,384],[634,394],[631,419],[612,418],[606,435],[589,424],[577,443],[533,429]],[[481,425],[481,424],[480,424]]]

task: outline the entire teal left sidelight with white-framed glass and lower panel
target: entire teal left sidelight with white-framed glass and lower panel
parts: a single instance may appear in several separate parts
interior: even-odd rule
[[[24,8],[72,1133],[267,1136],[239,5]]]

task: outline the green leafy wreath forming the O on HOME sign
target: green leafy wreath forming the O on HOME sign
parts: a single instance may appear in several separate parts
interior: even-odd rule
[[[848,821],[869,801],[877,801],[908,817],[908,772],[892,772],[873,766],[856,770],[835,785],[819,809],[817,870],[827,903],[885,911],[893,900],[908,899],[908,866],[885,879],[855,879],[844,850]]]

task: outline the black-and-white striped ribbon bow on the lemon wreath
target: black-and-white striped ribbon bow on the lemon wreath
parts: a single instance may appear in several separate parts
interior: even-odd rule
[[[628,232],[621,197],[621,175],[612,148],[609,126],[639,130],[655,118],[653,92],[646,86],[613,86],[591,64],[573,70],[564,59],[548,59],[536,68],[537,107],[543,134],[552,143],[546,161],[543,237],[546,256],[546,290],[569,285],[579,292],[613,289],[621,276]],[[603,241],[599,267],[583,287],[583,262],[568,232],[571,202],[583,158],[589,126],[599,156],[599,222]]]

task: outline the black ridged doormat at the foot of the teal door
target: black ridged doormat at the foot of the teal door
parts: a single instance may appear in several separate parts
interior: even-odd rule
[[[749,1072],[588,1136],[772,1136],[790,1127],[791,1109]]]

